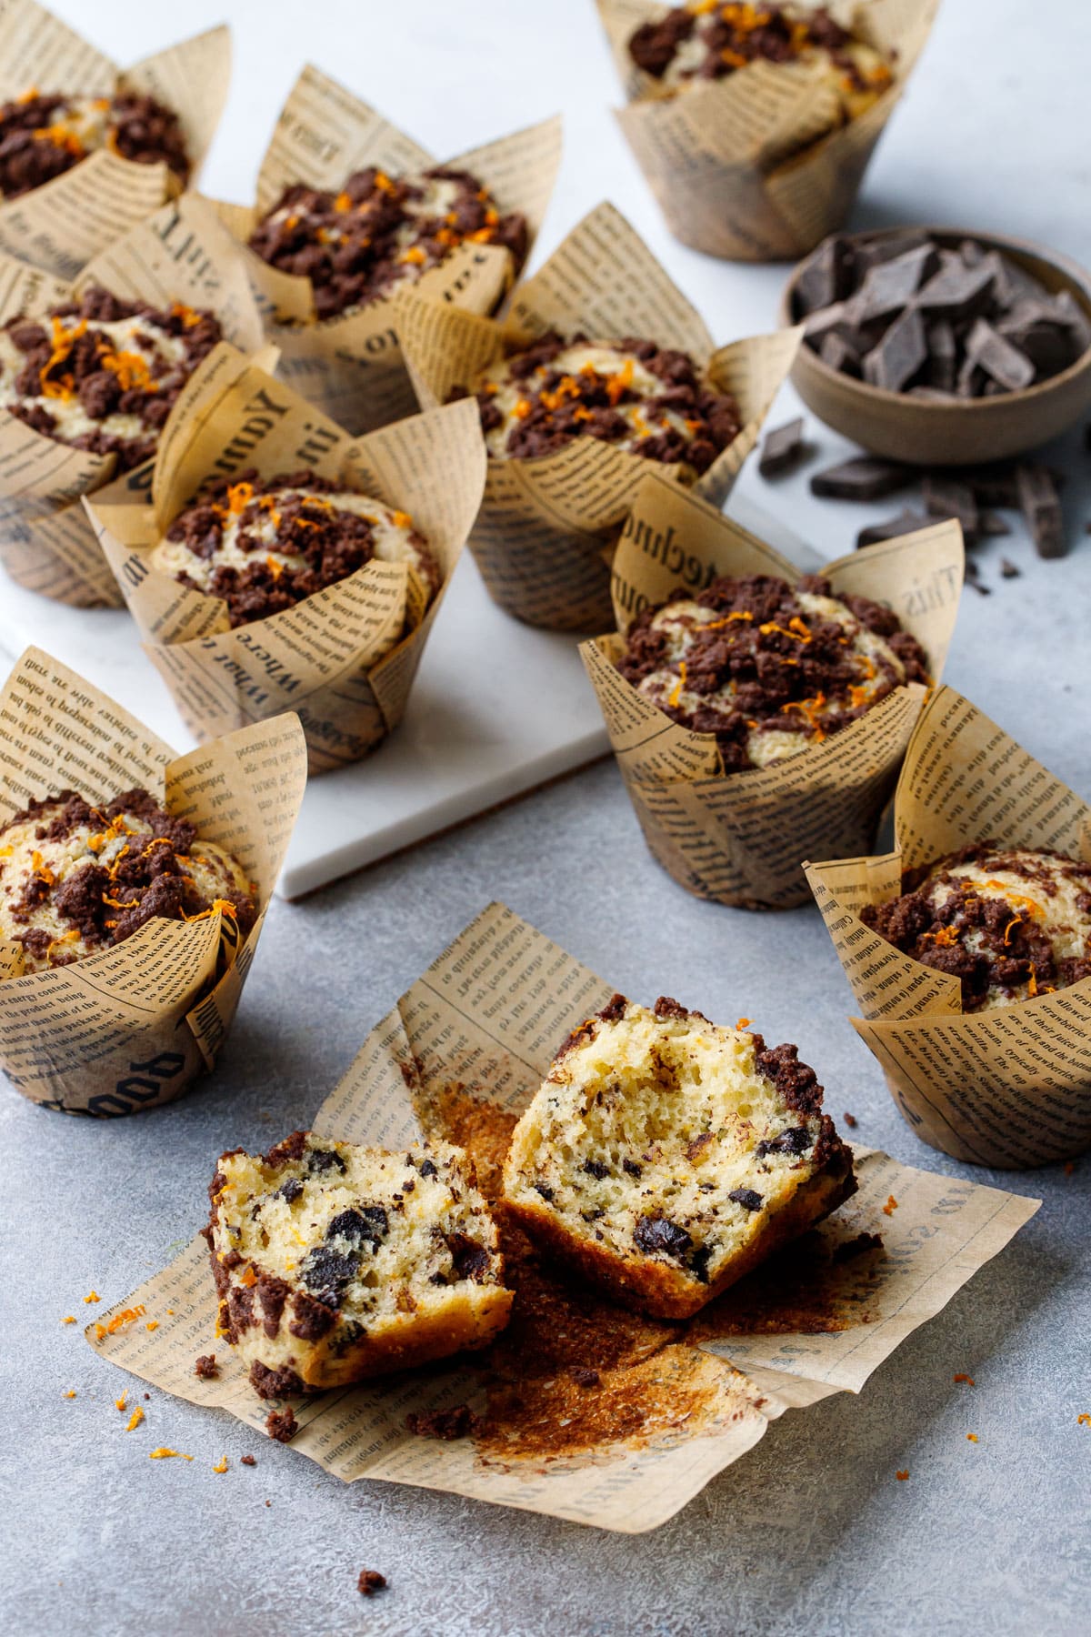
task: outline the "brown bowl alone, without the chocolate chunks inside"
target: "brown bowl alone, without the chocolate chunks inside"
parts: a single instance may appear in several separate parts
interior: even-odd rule
[[[849,244],[873,242],[905,234],[908,228],[844,234]],[[937,244],[957,247],[975,239],[986,250],[999,250],[1039,278],[1047,290],[1068,290],[1091,319],[1091,273],[1053,250],[1027,239],[970,232],[955,228],[924,228]],[[795,268],[780,298],[780,322],[798,322],[795,285],[803,264]],[[870,386],[852,375],[823,363],[806,344],[792,367],[792,383],[808,409],[834,431],[864,449],[890,460],[919,467],[970,467],[985,460],[1021,455],[1065,432],[1091,406],[1091,349],[1060,375],[1037,381],[1017,393],[996,398],[968,398],[963,403],[929,403],[905,393]]]

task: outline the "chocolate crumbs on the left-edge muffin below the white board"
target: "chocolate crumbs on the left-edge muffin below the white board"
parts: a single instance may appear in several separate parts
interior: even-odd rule
[[[59,812],[56,812],[57,804],[61,804]],[[54,882],[51,871],[43,868],[29,877],[21,900],[10,909],[11,918],[20,923],[29,922],[38,909],[52,904],[61,920],[69,922],[85,945],[111,946],[124,943],[155,915],[165,920],[191,920],[195,915],[208,913],[213,902],[185,869],[186,855],[198,838],[196,825],[167,812],[149,791],[126,791],[105,807],[92,807],[75,791],[61,791],[47,800],[31,800],[0,830],[0,841],[11,825],[26,823],[38,815],[43,817],[34,832],[39,841],[64,841],[82,828],[101,837],[111,833],[111,827],[113,833],[124,833],[126,814],[147,823],[150,837],[146,832],[132,832],[139,838],[139,846],[124,848],[110,868],[83,864],[61,882]],[[257,920],[254,899],[224,887],[216,902],[227,905],[224,913],[234,917],[245,938]],[[57,941],[54,946],[51,935],[43,928],[15,933],[15,940],[25,943],[34,954],[49,953],[52,966],[69,966],[79,959],[65,941]]]

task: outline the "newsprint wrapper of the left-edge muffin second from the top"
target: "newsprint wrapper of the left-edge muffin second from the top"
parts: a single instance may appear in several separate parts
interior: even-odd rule
[[[255,352],[263,344],[262,319],[234,241],[193,193],[164,205],[111,244],[74,285],[0,252],[0,324],[18,313],[41,318],[88,285],[155,308],[172,301],[206,308],[219,318],[234,347]],[[164,439],[177,409],[175,404]],[[113,506],[144,506],[152,462],[119,478],[114,468],[113,455],[72,449],[0,409],[0,561],[11,579],[72,607],[123,607],[82,498],[98,493]]]

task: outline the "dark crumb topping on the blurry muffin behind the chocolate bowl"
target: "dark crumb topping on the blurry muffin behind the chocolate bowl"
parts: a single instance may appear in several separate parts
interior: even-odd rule
[[[869,82],[846,47],[852,34],[833,20],[824,7],[803,10],[780,5],[716,5],[698,10],[676,7],[653,23],[643,23],[628,43],[638,69],[659,80],[667,72],[679,46],[702,41],[700,62],[684,70],[682,79],[721,80],[748,62],[792,62],[816,47],[829,52],[854,90],[867,90]]]

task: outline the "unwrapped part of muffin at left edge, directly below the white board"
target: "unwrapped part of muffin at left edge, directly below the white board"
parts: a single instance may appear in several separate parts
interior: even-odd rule
[[[141,789],[101,807],[61,791],[0,828],[0,936],[23,946],[26,972],[98,954],[155,915],[221,912],[245,938],[254,891],[229,853]]]

